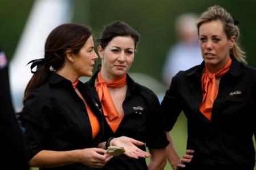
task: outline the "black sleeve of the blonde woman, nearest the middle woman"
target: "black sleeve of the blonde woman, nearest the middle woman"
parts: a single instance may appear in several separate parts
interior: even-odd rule
[[[170,131],[182,111],[182,106],[178,99],[178,74],[172,78],[170,87],[161,102],[161,109],[164,114],[165,130]]]

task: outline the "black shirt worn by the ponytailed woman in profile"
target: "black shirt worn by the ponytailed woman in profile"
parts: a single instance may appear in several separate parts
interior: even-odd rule
[[[86,88],[78,82],[76,88],[88,101]],[[90,100],[91,102],[91,100]],[[76,94],[72,82],[52,73],[50,80],[31,92],[23,109],[25,139],[29,160],[42,150],[70,151],[96,147],[103,135],[92,140],[90,119],[86,106]],[[95,111],[102,125],[103,118]],[[40,169],[92,169],[82,164],[70,164],[56,168]]]

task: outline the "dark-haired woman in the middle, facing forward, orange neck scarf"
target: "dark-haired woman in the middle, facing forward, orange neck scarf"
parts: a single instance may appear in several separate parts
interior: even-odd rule
[[[104,114],[105,132],[103,140],[108,146],[116,145],[120,136],[128,136],[144,142],[149,148],[151,161],[138,150],[129,150],[126,155],[115,156],[103,169],[164,169],[165,147],[168,145],[162,123],[159,99],[152,90],[129,77],[140,35],[129,24],[115,21],[107,24],[97,41],[101,59],[100,70],[86,82],[90,96],[101,105],[97,113]],[[146,147],[140,146],[146,151]],[[130,156],[130,157],[129,157]]]

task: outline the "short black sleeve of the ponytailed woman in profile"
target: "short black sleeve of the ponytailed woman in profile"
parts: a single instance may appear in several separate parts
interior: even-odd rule
[[[40,92],[32,92],[24,107],[25,140],[29,160],[48,148],[50,138],[50,100]]]

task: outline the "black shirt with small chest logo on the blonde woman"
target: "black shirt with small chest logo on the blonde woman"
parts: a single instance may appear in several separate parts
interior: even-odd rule
[[[202,102],[201,73],[205,63],[181,71],[172,78],[161,103],[166,131],[172,130],[181,111],[188,119],[187,148],[195,150],[188,167],[253,169],[255,150],[256,70],[233,58],[220,80],[213,103],[212,121],[199,111]]]

